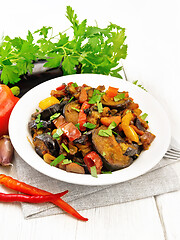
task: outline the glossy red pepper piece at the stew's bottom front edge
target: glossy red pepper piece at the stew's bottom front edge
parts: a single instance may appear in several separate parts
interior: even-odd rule
[[[87,165],[89,172],[91,173],[91,167],[96,166],[97,174],[101,173],[102,160],[100,156],[92,151],[84,157],[84,163]]]

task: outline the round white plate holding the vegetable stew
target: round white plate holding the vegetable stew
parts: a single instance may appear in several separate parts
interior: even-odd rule
[[[94,178],[88,174],[75,174],[50,166],[40,158],[27,137],[28,122],[31,114],[36,111],[39,102],[50,96],[52,89],[62,83],[76,82],[78,85],[86,83],[90,86],[98,85],[118,87],[120,91],[128,91],[134,102],[139,104],[143,113],[148,114],[150,130],[156,135],[150,149],[141,153],[140,157],[128,168],[118,170],[112,174],[101,174]],[[161,105],[149,93],[127,81],[104,75],[76,74],[59,77],[44,82],[27,92],[16,104],[9,121],[9,134],[12,144],[24,161],[39,172],[69,183],[80,185],[108,185],[124,182],[136,178],[153,168],[163,157],[171,139],[168,116]]]

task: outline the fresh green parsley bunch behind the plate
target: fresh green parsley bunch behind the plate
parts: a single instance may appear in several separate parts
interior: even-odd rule
[[[48,37],[52,27],[42,27],[26,39],[5,36],[0,44],[1,81],[15,84],[21,75],[32,73],[34,62],[45,60],[44,67],[60,67],[63,74],[96,73],[121,78],[120,59],[127,56],[124,44],[125,28],[110,23],[106,28],[88,26],[87,19],[79,22],[74,10],[67,6],[66,17],[71,23],[73,37],[66,32]],[[35,41],[35,35],[38,40]]]

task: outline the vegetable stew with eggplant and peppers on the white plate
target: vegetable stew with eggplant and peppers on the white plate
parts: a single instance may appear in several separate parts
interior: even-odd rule
[[[97,177],[128,167],[149,149],[155,135],[147,117],[127,91],[70,82],[39,102],[28,128],[47,164]]]

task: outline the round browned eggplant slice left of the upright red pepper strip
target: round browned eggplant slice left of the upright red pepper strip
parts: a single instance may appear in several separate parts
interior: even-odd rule
[[[66,104],[63,109],[63,114],[66,122],[72,122],[75,125],[78,123],[79,113],[73,108],[77,108],[80,110],[80,105],[77,101]]]

